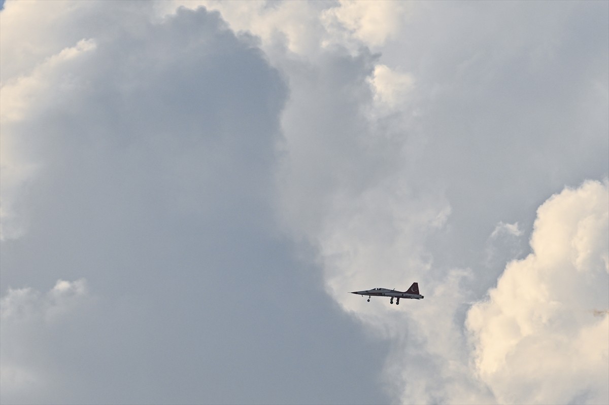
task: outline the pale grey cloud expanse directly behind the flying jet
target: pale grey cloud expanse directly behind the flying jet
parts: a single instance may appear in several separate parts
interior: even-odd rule
[[[606,10],[414,5],[401,35],[379,36],[372,55],[374,40],[343,25],[337,6],[301,5],[300,21],[314,22],[290,20],[289,33],[271,17],[288,8],[267,7],[251,20],[274,37],[218,7],[261,32],[289,78],[284,223],[317,247],[331,296],[389,339],[384,377],[396,402],[496,402],[470,364],[466,314],[527,253],[540,203],[607,173]],[[281,51],[282,33],[297,55]],[[308,47],[292,47],[306,34]],[[498,224],[509,232],[490,237]],[[428,292],[407,312],[343,294],[412,281]]]

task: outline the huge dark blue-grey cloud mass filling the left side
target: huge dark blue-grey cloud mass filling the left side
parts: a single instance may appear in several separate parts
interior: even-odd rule
[[[319,266],[279,227],[287,87],[256,40],[205,9],[52,6],[75,40],[55,47],[43,24],[2,43],[2,71],[18,72],[6,86],[32,94],[2,137],[15,165],[37,168],[10,192],[2,181],[3,207],[27,223],[2,241],[2,297],[50,300],[55,319],[39,327],[25,319],[40,311],[7,307],[2,403],[387,402],[384,343],[323,293]],[[27,7],[7,4],[2,27],[37,13]],[[5,49],[29,41],[44,48],[26,47],[31,69],[10,64]],[[71,304],[77,282],[36,292],[81,278],[88,306]]]

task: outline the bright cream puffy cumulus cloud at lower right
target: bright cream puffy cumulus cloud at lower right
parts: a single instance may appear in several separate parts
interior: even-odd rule
[[[476,370],[499,403],[605,403],[607,182],[565,189],[538,209],[532,253],[468,311]]]

